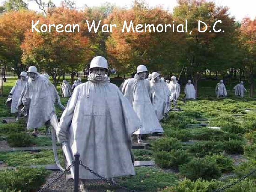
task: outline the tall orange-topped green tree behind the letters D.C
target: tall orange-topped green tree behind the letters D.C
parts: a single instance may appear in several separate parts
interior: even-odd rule
[[[197,93],[198,80],[206,70],[225,71],[234,61],[235,47],[235,22],[228,14],[227,7],[218,7],[213,2],[204,0],[179,0],[179,5],[174,9],[174,17],[178,22],[187,20],[186,47],[182,63],[187,68],[187,73],[192,78]],[[198,20],[207,23],[208,30],[204,33],[198,30]],[[213,25],[218,23],[214,33]],[[201,31],[206,29],[201,25]],[[211,30],[211,32],[209,32]]]

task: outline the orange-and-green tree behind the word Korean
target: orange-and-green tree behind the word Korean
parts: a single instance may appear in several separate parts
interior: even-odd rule
[[[55,8],[51,15],[42,18],[41,23],[79,24],[84,28],[82,18],[84,13],[66,7]],[[53,28],[52,28],[53,29]],[[68,28],[69,29],[69,28]],[[45,33],[26,32],[26,38],[22,44],[23,62],[33,63],[42,71],[52,75],[54,81],[58,82],[60,75],[65,72],[71,73],[71,82],[74,81],[75,71],[81,69],[84,63],[91,57],[89,39],[82,36],[75,28],[75,32],[57,31]],[[58,76],[58,79],[56,79]]]

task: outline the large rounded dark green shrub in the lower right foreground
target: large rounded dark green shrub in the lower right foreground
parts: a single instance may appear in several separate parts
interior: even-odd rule
[[[194,158],[179,167],[180,173],[191,180],[202,178],[205,180],[217,179],[222,173],[220,168],[209,159]]]

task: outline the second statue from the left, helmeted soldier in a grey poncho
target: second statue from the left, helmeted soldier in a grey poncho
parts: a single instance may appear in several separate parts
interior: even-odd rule
[[[55,112],[49,80],[40,75],[35,66],[30,66],[27,73],[29,78],[17,106],[24,106],[21,111],[27,118],[27,129],[34,129],[33,135],[36,137],[37,128],[49,126]]]

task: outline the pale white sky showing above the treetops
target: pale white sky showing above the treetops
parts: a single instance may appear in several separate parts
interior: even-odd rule
[[[0,0],[0,4],[5,0]],[[30,0],[25,0],[28,3],[28,8],[40,11],[35,2]],[[44,1],[44,0],[43,0]],[[55,5],[60,5],[62,0],[52,0]],[[74,0],[77,7],[83,7],[85,4],[87,6],[97,6],[105,2],[110,2],[116,4],[117,6],[130,7],[133,0]],[[210,0],[207,0],[210,1]],[[230,8],[229,13],[234,16],[237,21],[241,21],[242,18],[249,16],[251,19],[256,17],[256,0],[213,0],[219,6],[228,6]],[[173,8],[177,5],[177,0],[145,0],[151,7],[161,5],[165,9],[172,12]]]

